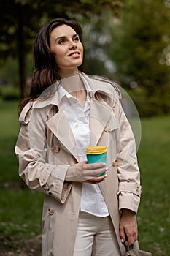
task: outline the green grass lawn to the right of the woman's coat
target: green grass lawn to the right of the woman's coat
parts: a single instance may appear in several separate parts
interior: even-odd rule
[[[169,255],[170,244],[170,116],[142,119],[139,167],[142,200],[139,208],[139,241],[154,256]]]

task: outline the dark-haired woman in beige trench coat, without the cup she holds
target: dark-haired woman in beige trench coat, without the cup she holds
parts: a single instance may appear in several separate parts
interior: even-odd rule
[[[134,136],[115,83],[82,73],[81,36],[63,18],[36,35],[31,92],[20,103],[19,173],[45,194],[43,256],[125,255],[125,239],[137,240],[141,192]],[[87,163],[88,144],[107,146],[107,165]]]

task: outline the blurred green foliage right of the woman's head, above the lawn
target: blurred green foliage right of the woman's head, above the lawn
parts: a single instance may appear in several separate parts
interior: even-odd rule
[[[128,0],[120,18],[108,10],[90,21],[83,24],[86,71],[120,83],[140,116],[170,113],[170,14],[163,2]]]

